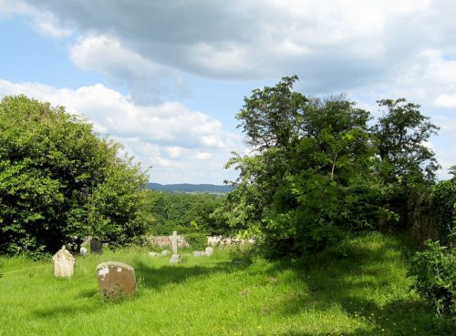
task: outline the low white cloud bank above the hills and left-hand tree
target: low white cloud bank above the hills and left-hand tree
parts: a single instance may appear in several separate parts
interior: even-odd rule
[[[57,89],[36,83],[0,80],[0,97],[25,94],[61,105],[68,112],[88,118],[94,130],[109,135],[144,166],[151,178],[162,182],[200,181],[223,183],[223,165],[230,150],[239,147],[237,136],[221,123],[179,103],[157,107],[135,105],[129,97],[101,84],[77,90]]]

